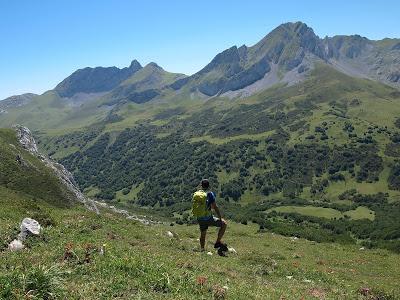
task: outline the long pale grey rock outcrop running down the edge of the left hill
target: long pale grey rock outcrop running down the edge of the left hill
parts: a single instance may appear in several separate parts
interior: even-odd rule
[[[18,141],[20,142],[22,147],[30,152],[32,155],[39,158],[47,167],[51,168],[54,171],[55,175],[59,178],[61,183],[68,189],[69,192],[72,193],[74,199],[71,200],[79,201],[83,203],[88,209],[99,213],[95,202],[91,199],[86,198],[79,190],[71,172],[65,169],[63,165],[49,159],[38,151],[35,139],[33,138],[31,131],[27,127],[14,125],[13,128],[17,133]]]

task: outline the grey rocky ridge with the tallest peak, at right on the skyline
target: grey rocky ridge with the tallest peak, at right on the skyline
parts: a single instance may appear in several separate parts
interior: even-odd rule
[[[393,40],[394,45],[383,47],[383,50],[378,49],[378,44],[382,44],[382,41],[371,41],[359,35],[321,39],[305,23],[285,23],[251,47],[233,46],[217,54],[202,70],[172,84],[171,87],[178,90],[192,81],[195,82],[192,90],[197,88],[207,96],[214,96],[242,89],[261,80],[271,71],[271,64],[278,66],[278,73],[290,72],[295,68],[298,73],[303,73],[320,60],[348,75],[377,80],[399,88],[400,76],[396,70],[400,67],[400,52],[397,51],[400,46]],[[396,51],[394,58],[390,57],[391,53],[387,53],[390,51]],[[371,66],[372,56],[378,58]],[[352,68],[344,67],[346,63],[350,64],[346,59],[353,60]],[[386,62],[385,59],[389,61]],[[292,83],[291,80],[277,80],[275,83],[279,82]]]

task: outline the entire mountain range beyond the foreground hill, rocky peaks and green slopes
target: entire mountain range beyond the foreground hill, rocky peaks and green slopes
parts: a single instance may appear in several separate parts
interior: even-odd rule
[[[399,39],[286,23],[191,76],[135,60],[77,70],[1,101],[0,126],[31,128],[89,197],[190,222],[207,177],[230,219],[397,249],[399,63]]]

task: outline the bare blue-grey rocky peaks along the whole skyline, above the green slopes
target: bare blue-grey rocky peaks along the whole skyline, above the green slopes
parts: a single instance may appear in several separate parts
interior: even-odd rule
[[[155,63],[84,68],[75,71],[52,92],[71,102],[101,98],[101,103],[143,103],[162,99],[171,91],[188,90],[199,96],[250,96],[277,83],[295,84],[307,77],[316,63],[327,64],[344,74],[400,87],[400,39],[369,40],[359,35],[319,38],[302,22],[278,26],[257,44],[233,46],[203,69],[185,76],[166,72]],[[50,92],[50,91],[49,91]],[[49,92],[45,93],[48,94]],[[34,95],[29,94],[29,98]],[[14,96],[26,97],[26,95]],[[8,98],[8,105],[28,101]]]

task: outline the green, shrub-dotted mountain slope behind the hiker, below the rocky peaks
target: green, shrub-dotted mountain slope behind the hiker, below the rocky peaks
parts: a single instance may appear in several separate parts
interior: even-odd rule
[[[398,251],[399,101],[396,89],[321,64],[298,85],[161,113],[146,106],[131,128],[101,122],[42,145],[100,199],[186,222],[208,177],[236,221]]]

